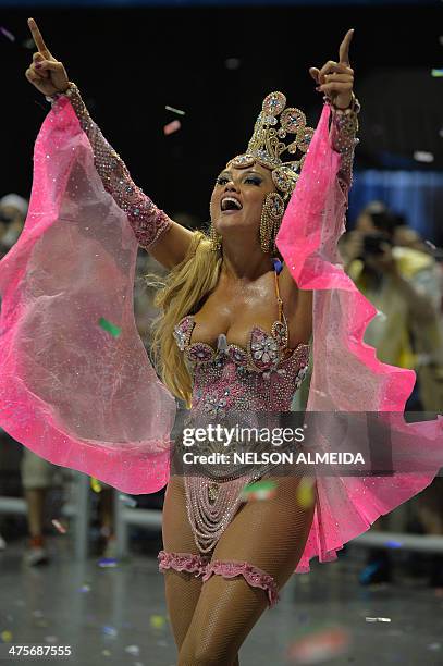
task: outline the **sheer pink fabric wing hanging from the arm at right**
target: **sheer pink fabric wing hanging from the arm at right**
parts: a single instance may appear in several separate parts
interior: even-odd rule
[[[313,291],[313,372],[307,410],[380,412],[390,433],[395,473],[317,477],[315,519],[297,572],[308,571],[315,556],[320,562],[336,559],[344,543],[423,490],[443,466],[443,418],[406,423],[403,417],[415,372],[382,363],[362,341],[377,310],[346,275],[337,251],[346,198],[336,177],[340,155],[331,147],[329,118],[330,107],[324,106],[276,238],[297,285]],[[318,448],[335,449],[339,442],[327,425],[321,430],[321,422],[319,416]]]

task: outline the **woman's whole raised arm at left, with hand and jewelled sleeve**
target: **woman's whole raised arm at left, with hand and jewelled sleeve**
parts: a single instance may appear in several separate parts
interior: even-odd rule
[[[90,118],[78,88],[69,82],[66,71],[48,50],[37,24],[28,20],[38,52],[26,71],[27,79],[52,103],[66,96],[87,135],[97,172],[104,189],[125,211],[138,244],[165,268],[173,268],[186,256],[193,232],[171,220],[132,181],[130,172]]]

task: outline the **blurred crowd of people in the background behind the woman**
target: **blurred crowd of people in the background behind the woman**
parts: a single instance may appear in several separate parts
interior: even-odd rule
[[[0,199],[0,259],[17,240],[26,218],[27,201],[15,194]],[[195,220],[186,214],[174,218],[186,226]],[[407,220],[390,210],[383,202],[373,201],[358,215],[355,229],[341,238],[340,251],[344,269],[358,288],[378,309],[370,322],[365,341],[377,350],[380,360],[417,373],[408,411],[443,411],[443,254],[407,224]],[[149,349],[150,322],[157,311],[153,289],[146,285],[144,275],[164,275],[164,269],[139,249],[136,264],[134,310],[140,336]],[[308,382],[299,392],[307,394]],[[415,419],[417,420],[417,419]],[[4,437],[5,433],[0,432]],[[419,445],[419,443],[417,443]],[[28,542],[25,559],[29,565],[48,562],[45,543],[45,506],[48,492],[57,483],[58,470],[26,447],[20,447],[21,483],[27,505]],[[3,465],[0,457],[0,466]],[[0,467],[0,473],[1,473]],[[0,496],[4,495],[0,476]],[[63,483],[63,479],[59,482]],[[101,488],[98,506],[103,552],[112,556],[113,493]],[[415,527],[421,533],[443,535],[443,479],[418,495],[414,505]],[[0,504],[0,531],[2,515]],[[385,529],[383,518],[374,529]],[[0,536],[0,550],[7,547]],[[429,570],[430,584],[443,587],[443,557],[433,556]],[[392,579],[389,551],[372,548],[360,576],[361,584],[387,582]]]

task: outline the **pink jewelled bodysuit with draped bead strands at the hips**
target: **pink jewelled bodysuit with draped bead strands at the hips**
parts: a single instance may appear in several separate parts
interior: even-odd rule
[[[309,345],[288,349],[288,326],[274,272],[279,319],[268,333],[253,326],[247,348],[229,344],[224,333],[218,346],[193,342],[194,316],[184,317],[174,330],[179,348],[193,378],[192,411],[194,423],[211,420],[224,423],[225,416],[257,411],[288,411],[294,393],[300,385],[309,363]],[[242,490],[269,472],[272,465],[261,466],[236,477],[214,482],[214,466],[205,474],[185,476],[186,508],[196,544],[209,553],[232,520],[242,503]]]

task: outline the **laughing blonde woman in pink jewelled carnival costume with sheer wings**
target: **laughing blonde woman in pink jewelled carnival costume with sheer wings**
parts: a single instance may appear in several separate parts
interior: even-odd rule
[[[37,52],[26,76],[52,109],[35,146],[25,229],[0,263],[0,424],[123,492],[168,483],[159,563],[179,664],[238,664],[294,571],[315,556],[335,559],[442,465],[441,417],[404,422],[415,374],[381,363],[362,342],[377,311],[336,249],[357,143],[353,30],[339,62],[310,70],[325,96],[316,132],[282,92],[267,96],[246,152],[217,177],[204,234],[134,184],[29,27]],[[153,336],[162,381],[134,323],[137,244],[170,271]],[[307,410],[394,415],[385,421],[394,473],[317,476],[311,503],[297,501],[303,474],[273,477],[272,466],[217,481],[170,474],[174,396],[202,419],[287,411],[310,353]],[[242,492],[258,478],[274,481],[266,502]]]

